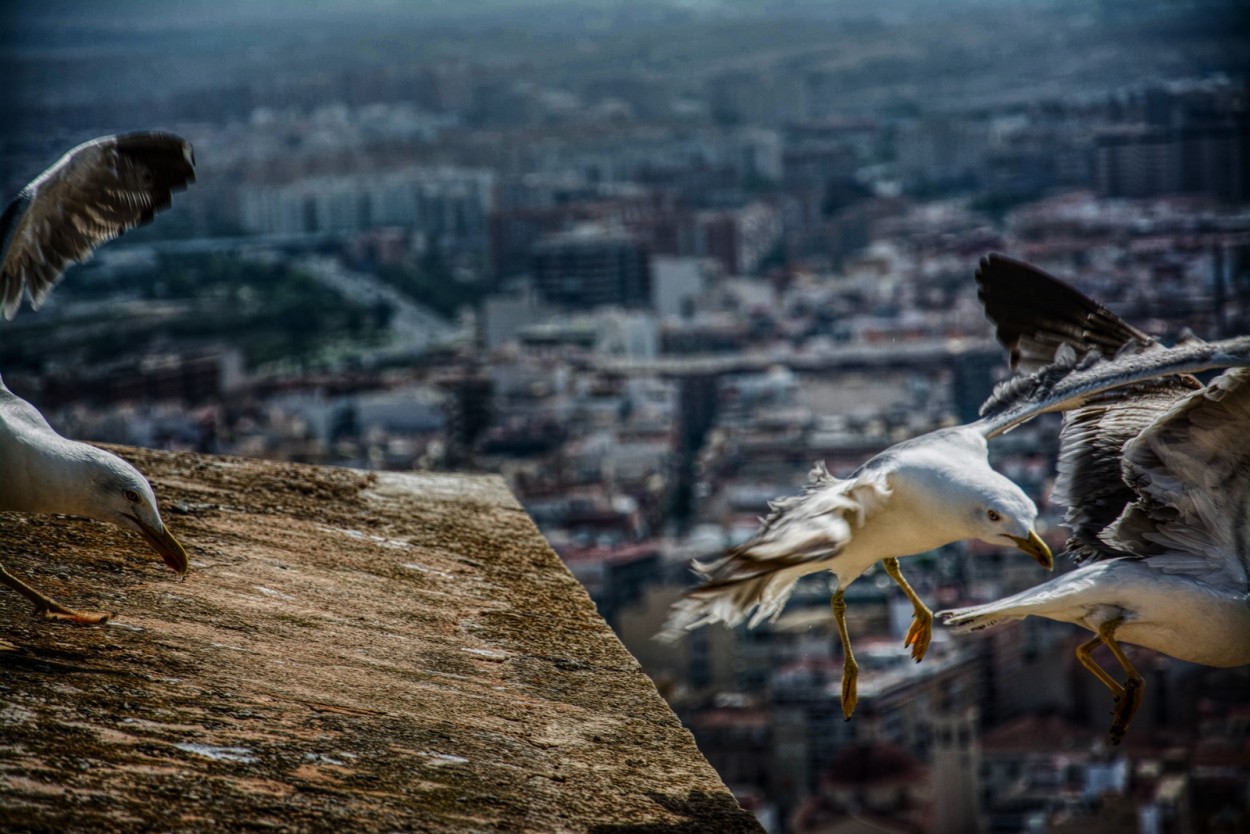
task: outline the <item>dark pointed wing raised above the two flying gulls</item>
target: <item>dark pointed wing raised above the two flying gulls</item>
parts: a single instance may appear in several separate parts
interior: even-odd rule
[[[1112,358],[1155,340],[1071,285],[1014,258],[991,253],[976,270],[976,296],[1011,356],[1011,370],[1034,374],[1061,345],[1078,358]]]

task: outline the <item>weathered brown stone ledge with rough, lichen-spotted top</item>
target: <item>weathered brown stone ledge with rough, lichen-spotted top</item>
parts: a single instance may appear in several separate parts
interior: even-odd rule
[[[116,449],[191,554],[0,515],[4,831],[759,831],[501,480]]]

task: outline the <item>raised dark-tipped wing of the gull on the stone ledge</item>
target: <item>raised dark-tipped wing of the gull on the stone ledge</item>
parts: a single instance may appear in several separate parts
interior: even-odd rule
[[[166,133],[92,139],[40,174],[0,216],[0,308],[39,309],[66,265],[149,223],[195,181],[191,146]]]

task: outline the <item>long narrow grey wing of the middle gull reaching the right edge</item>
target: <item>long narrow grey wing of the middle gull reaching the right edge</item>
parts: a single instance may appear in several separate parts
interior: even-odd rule
[[[1112,360],[1104,360],[1098,354],[1078,360],[1071,348],[1060,349],[1056,361],[1036,374],[999,383],[981,406],[981,419],[972,426],[985,438],[994,438],[1039,414],[1088,405],[1102,391],[1176,374],[1248,365],[1250,336],[1155,346]]]

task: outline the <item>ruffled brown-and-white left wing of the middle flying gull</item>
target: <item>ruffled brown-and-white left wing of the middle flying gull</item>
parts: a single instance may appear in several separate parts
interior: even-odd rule
[[[714,561],[695,563],[702,583],[674,604],[660,636],[675,639],[708,623],[738,625],[748,615],[751,625],[775,618],[794,583],[841,553],[889,496],[882,468],[840,479],[818,463],[804,491],[772,501],[772,513],[750,540]]]

